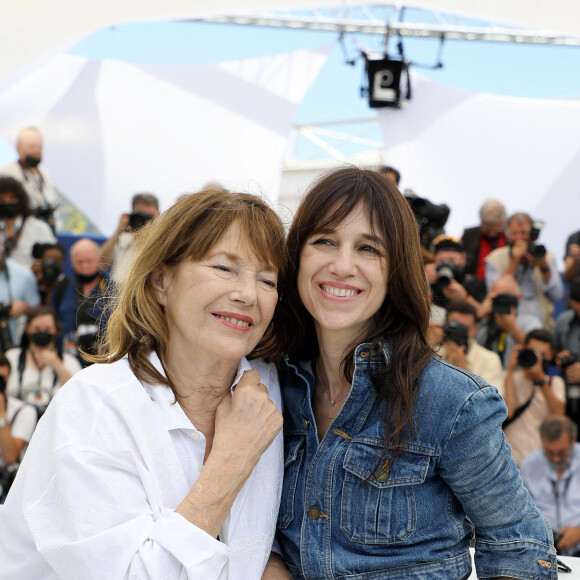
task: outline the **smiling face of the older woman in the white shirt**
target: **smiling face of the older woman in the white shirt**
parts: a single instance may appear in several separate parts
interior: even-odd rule
[[[169,350],[238,364],[272,320],[277,278],[276,269],[248,247],[236,222],[200,261],[161,267],[153,283],[169,327]]]

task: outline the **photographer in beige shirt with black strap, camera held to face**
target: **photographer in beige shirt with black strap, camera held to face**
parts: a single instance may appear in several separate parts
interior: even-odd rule
[[[566,389],[561,377],[548,376],[551,359],[552,335],[547,330],[529,332],[524,345],[515,346],[510,356],[505,376],[508,415],[504,432],[518,465],[541,447],[542,421],[551,414],[564,414]]]

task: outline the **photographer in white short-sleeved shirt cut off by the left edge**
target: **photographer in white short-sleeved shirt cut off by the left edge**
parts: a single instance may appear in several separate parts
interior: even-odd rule
[[[34,407],[6,395],[9,374],[10,363],[0,353],[0,503],[4,503],[18,469],[16,462],[22,459],[37,422]]]

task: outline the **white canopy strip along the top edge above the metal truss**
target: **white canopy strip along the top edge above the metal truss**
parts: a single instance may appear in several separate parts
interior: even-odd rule
[[[368,4],[360,0],[317,0],[316,6]],[[575,0],[419,0],[415,6],[504,24],[580,36]],[[304,0],[0,0],[0,86],[29,72],[91,33],[129,22],[202,18],[260,10],[299,9]],[[6,58],[6,55],[10,55]]]

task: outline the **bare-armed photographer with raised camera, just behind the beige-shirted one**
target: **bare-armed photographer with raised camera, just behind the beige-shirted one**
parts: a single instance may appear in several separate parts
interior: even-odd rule
[[[491,285],[478,312],[482,320],[477,331],[477,342],[499,355],[504,369],[514,345],[524,344],[528,332],[543,328],[539,318],[519,311],[521,298],[516,279],[502,276]]]

